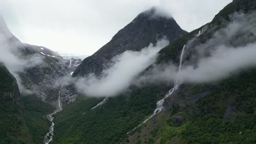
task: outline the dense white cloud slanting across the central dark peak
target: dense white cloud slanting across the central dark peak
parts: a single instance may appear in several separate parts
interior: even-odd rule
[[[168,41],[159,40],[141,51],[125,51],[112,59],[112,65],[102,71],[101,77],[90,74],[75,82],[78,92],[90,97],[113,97],[127,90],[133,79],[155,62],[157,53]]]

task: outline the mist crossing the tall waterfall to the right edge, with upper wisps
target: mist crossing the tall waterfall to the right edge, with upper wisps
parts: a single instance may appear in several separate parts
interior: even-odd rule
[[[184,83],[216,82],[256,67],[256,13],[235,13],[230,19],[228,23],[223,21],[226,26],[215,32],[206,43],[191,47],[196,36],[188,41],[185,49],[193,48],[195,51],[190,57],[196,57],[197,61],[185,61],[181,71],[173,63],[155,65],[146,75],[139,77],[135,85],[172,83],[175,80]]]

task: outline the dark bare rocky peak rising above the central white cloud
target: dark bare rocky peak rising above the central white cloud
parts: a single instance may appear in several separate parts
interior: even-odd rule
[[[95,73],[97,76],[106,68],[106,64],[126,50],[139,51],[150,43],[156,44],[166,37],[170,43],[187,34],[172,17],[158,14],[155,8],[139,14],[131,23],[114,35],[112,40],[101,47],[94,55],[84,59],[73,76]]]

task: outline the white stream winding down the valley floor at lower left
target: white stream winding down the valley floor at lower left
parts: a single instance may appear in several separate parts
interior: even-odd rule
[[[49,132],[44,136],[44,143],[48,144],[51,140],[53,140],[53,132],[54,132],[54,117],[53,115],[55,115],[57,112],[60,112],[62,110],[61,107],[61,89],[63,87],[64,84],[61,85],[60,91],[59,91],[59,98],[58,98],[58,107],[57,109],[53,112],[50,113],[47,118],[49,119],[49,121],[51,122],[51,126],[49,128]]]

